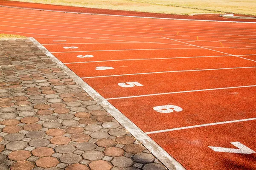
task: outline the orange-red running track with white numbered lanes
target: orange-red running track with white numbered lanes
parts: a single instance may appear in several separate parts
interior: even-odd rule
[[[256,169],[255,23],[3,7],[0,20],[0,33],[34,37],[186,169]]]

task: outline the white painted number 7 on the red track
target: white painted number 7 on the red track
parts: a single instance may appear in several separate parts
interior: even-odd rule
[[[213,146],[209,146],[209,148],[211,148],[215,152],[241,153],[241,154],[256,153],[254,150],[251,150],[249,147],[241,144],[240,142],[231,142],[231,144],[233,144],[235,147],[239,149],[227,148],[227,147],[213,147]]]

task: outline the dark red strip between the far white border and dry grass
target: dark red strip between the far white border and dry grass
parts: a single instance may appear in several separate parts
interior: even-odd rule
[[[52,11],[69,11],[69,12],[81,12],[90,14],[111,14],[111,15],[126,15],[126,16],[138,16],[138,17],[158,17],[158,18],[176,18],[176,19],[189,19],[189,20],[217,20],[217,21],[246,21],[255,22],[251,19],[233,19],[219,17],[219,14],[198,14],[194,16],[188,15],[173,15],[173,14],[157,14],[149,12],[136,12],[136,11],[122,11],[122,10],[109,10],[109,9],[97,9],[97,8],[82,8],[73,6],[59,6],[59,5],[48,5],[38,3],[26,3],[18,1],[1,0],[0,5],[2,6],[13,6],[20,8],[34,8],[34,9],[47,9]],[[236,16],[252,17],[250,15],[236,14]]]

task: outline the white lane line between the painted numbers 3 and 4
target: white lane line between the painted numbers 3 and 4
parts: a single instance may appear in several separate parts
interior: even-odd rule
[[[90,63],[90,62],[113,62],[113,61],[134,61],[134,60],[151,60],[151,59],[205,58],[205,57],[230,57],[230,56],[196,56],[196,57],[168,57],[168,58],[146,58],[146,59],[116,59],[116,60],[103,60],[103,61],[64,62],[64,64],[78,64],[78,63]]]

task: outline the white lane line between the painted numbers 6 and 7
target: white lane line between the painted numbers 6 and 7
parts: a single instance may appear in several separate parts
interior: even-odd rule
[[[256,120],[256,118],[231,120],[231,121],[216,122],[216,123],[207,123],[207,124],[202,124],[202,125],[177,127],[177,128],[173,128],[173,129],[166,129],[166,130],[156,130],[156,131],[146,132],[146,134],[163,133],[163,132],[170,132],[170,131],[175,131],[175,130],[191,129],[191,128],[195,128],[195,127],[214,126],[214,125],[222,125],[222,124],[236,123],[236,122],[245,122],[245,121],[252,121],[252,120]]]

